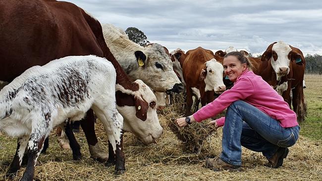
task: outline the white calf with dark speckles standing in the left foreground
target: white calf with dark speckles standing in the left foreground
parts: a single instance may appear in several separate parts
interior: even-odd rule
[[[90,108],[103,123],[114,154],[123,155],[123,118],[116,110],[115,81],[115,69],[107,59],[68,56],[29,68],[0,91],[0,131],[18,137],[19,165],[25,150],[28,154],[21,181],[33,180],[51,130],[63,126],[67,118],[82,119]],[[124,162],[124,156],[117,156],[116,162]]]

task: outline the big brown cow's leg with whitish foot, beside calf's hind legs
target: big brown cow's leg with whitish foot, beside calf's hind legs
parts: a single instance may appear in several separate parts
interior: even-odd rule
[[[91,158],[100,162],[106,162],[108,155],[101,149],[95,134],[95,116],[92,109],[87,111],[86,117],[80,122],[87,139]]]

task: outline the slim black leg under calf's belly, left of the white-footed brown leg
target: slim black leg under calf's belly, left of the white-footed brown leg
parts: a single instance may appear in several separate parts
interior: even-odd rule
[[[68,138],[69,145],[70,145],[70,148],[73,153],[73,159],[80,160],[82,158],[82,154],[80,152],[80,146],[74,136],[70,122],[68,120],[66,120],[65,123],[60,125],[60,127],[61,127],[61,130],[65,132],[65,134]]]

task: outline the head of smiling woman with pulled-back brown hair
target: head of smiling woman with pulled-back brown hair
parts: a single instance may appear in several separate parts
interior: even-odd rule
[[[246,63],[242,64],[236,56],[230,55],[223,59],[223,71],[232,82],[236,81],[246,67]]]

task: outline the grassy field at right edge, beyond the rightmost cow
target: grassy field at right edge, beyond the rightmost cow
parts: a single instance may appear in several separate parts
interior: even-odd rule
[[[302,136],[322,140],[322,75],[305,75],[304,95],[308,103],[308,117],[300,124]]]

